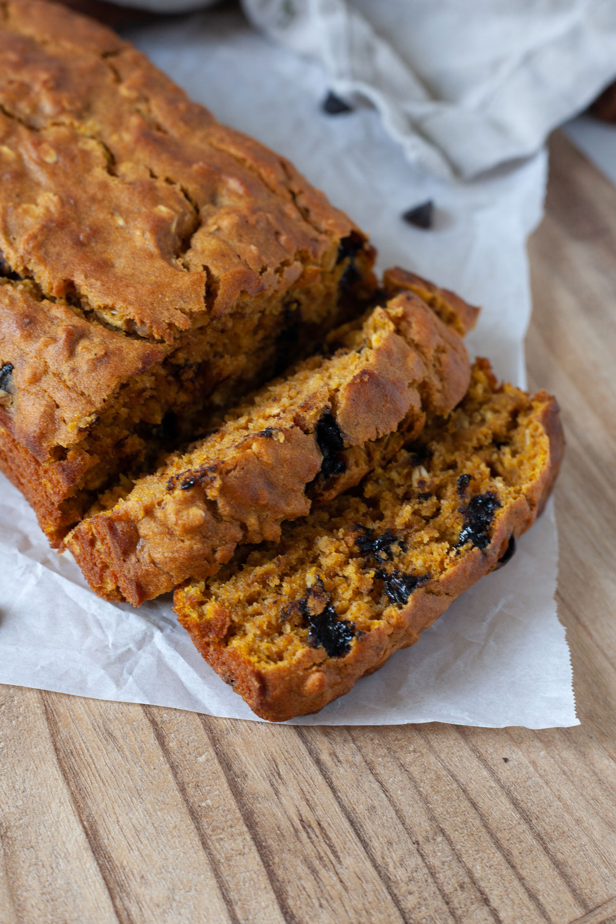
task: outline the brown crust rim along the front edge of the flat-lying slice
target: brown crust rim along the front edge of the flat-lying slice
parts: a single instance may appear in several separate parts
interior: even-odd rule
[[[203,585],[194,582],[175,591],[175,612],[180,622],[214,670],[233,684],[261,718],[280,722],[320,710],[346,693],[359,677],[377,670],[393,651],[414,644],[454,599],[499,564],[511,549],[512,537],[516,539],[533,524],[558,474],[564,444],[558,406],[550,395],[542,392],[534,397],[525,425],[535,434],[543,434],[540,442],[545,455],[523,494],[499,505],[489,544],[485,548],[471,547],[439,577],[434,576],[423,587],[417,586],[405,607],[390,607],[387,617],[359,635],[343,657],[328,657],[320,645],[304,645],[292,660],[271,660],[267,668],[261,669],[241,649],[226,644],[231,614],[224,602],[217,605],[208,597],[209,616],[202,617]],[[275,561],[272,557],[272,580]],[[247,586],[252,586],[249,577],[247,581]],[[257,586],[255,583],[255,593]]]

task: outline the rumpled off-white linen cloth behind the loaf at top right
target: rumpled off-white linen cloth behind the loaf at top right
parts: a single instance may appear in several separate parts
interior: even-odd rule
[[[159,12],[203,0],[129,0]],[[211,5],[211,4],[210,4]],[[405,155],[469,179],[527,157],[616,77],[616,0],[242,0],[272,40],[369,101]]]

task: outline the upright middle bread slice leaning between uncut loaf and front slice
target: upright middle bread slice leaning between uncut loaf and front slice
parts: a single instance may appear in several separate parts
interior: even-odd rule
[[[356,485],[468,386],[460,334],[411,291],[327,346],[69,534],[93,590],[137,605],[215,573],[239,543],[278,539],[284,520]]]

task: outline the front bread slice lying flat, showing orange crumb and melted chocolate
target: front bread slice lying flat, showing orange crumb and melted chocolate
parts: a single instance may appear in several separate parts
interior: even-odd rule
[[[175,591],[199,651],[261,718],[321,709],[504,565],[561,462],[559,409],[478,360],[463,402],[355,492]]]

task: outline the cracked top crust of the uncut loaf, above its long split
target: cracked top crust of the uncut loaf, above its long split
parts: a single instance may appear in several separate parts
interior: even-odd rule
[[[332,269],[355,226],[114,32],[0,8],[0,250],[51,298],[173,343]]]

